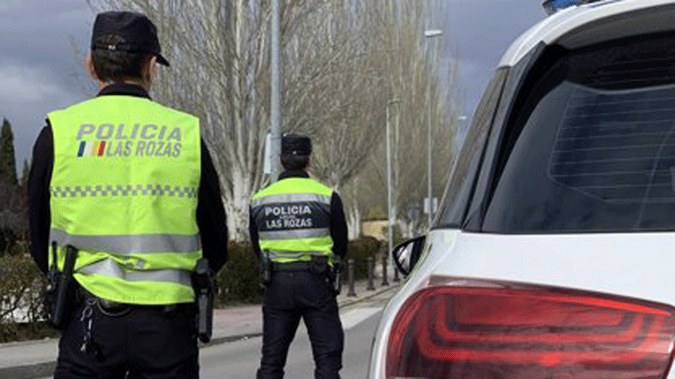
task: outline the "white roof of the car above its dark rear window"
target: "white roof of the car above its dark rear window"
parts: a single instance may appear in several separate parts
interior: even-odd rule
[[[607,0],[571,6],[518,37],[499,67],[512,67],[539,43],[575,49],[610,39],[673,30],[675,0]]]

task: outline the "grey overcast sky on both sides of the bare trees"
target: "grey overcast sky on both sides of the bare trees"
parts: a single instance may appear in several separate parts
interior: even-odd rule
[[[459,91],[471,116],[508,45],[545,12],[542,0],[446,1],[446,24],[430,27],[442,28],[439,43],[459,53]],[[85,0],[0,0],[0,118],[12,122],[18,170],[45,114],[92,95],[82,61],[93,19]]]

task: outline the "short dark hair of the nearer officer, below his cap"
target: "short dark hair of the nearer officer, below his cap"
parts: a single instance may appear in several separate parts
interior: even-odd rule
[[[124,43],[121,36],[100,36],[96,43]],[[152,55],[120,50],[97,49],[91,51],[94,73],[101,82],[123,82],[126,79],[143,79],[143,68]]]

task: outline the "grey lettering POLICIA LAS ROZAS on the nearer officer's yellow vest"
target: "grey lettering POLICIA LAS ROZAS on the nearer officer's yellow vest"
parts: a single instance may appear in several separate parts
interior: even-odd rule
[[[106,141],[105,156],[167,156],[180,155],[180,128],[154,124],[94,125],[84,123],[77,131],[77,140],[98,139]]]

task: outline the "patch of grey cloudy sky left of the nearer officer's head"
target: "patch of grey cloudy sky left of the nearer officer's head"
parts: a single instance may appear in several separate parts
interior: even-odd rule
[[[17,162],[30,159],[47,112],[86,97],[93,17],[84,0],[0,0],[0,118],[12,122]]]

